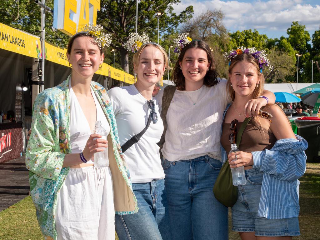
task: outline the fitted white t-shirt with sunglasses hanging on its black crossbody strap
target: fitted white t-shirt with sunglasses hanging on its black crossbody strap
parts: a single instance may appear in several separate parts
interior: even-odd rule
[[[108,91],[108,96],[116,116],[122,146],[146,127],[150,109],[147,100],[140,94],[134,84],[121,88],[114,87]],[[161,166],[159,146],[157,145],[163,133],[163,122],[155,99],[154,103],[158,121],[156,124],[151,121],[139,142],[133,144],[124,152],[133,183],[164,179],[165,176]]]

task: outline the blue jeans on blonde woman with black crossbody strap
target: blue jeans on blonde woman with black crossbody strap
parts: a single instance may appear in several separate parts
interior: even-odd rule
[[[116,215],[119,240],[172,240],[164,179],[132,183],[139,211]]]

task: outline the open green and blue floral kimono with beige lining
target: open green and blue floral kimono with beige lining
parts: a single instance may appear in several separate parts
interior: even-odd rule
[[[26,153],[30,193],[41,231],[47,240],[57,238],[54,220],[57,194],[69,171],[69,167],[62,168],[62,164],[66,154],[71,153],[70,76],[62,84],[46,89],[36,97],[32,132]],[[106,90],[100,84],[91,82],[91,88],[110,124],[108,154],[116,214],[133,214],[138,212],[137,200],[132,192],[130,174],[119,144],[112,105]]]

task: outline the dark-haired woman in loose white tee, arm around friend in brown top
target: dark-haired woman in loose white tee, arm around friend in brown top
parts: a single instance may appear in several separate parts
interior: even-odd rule
[[[188,42],[176,49],[180,52],[172,74],[176,90],[161,150],[172,239],[223,240],[228,239],[228,208],[215,199],[212,188],[222,166],[227,80],[218,78],[208,44]],[[160,106],[163,94],[157,95]],[[274,102],[272,92],[265,95]],[[250,100],[239,114],[256,116],[266,104],[265,97]]]

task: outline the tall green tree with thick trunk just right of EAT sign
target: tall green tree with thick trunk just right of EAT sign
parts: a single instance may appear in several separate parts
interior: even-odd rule
[[[145,32],[153,42],[157,42],[157,12],[161,12],[159,33],[173,33],[193,13],[192,6],[180,14],[174,13],[173,5],[179,3],[180,0],[141,0],[138,4],[138,33]],[[120,53],[121,66],[129,72],[128,52],[123,45],[129,34],[135,32],[136,0],[101,0],[100,7],[97,22],[113,34],[111,47]]]

